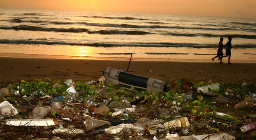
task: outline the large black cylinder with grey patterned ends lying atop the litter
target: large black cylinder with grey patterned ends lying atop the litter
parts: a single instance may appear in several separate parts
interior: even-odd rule
[[[166,91],[166,84],[161,80],[138,76],[110,67],[106,67],[103,74],[107,82],[122,87],[134,87],[153,92]]]

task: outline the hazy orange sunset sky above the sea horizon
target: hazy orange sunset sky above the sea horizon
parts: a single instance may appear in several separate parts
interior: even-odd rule
[[[0,0],[0,8],[256,18],[256,0]]]

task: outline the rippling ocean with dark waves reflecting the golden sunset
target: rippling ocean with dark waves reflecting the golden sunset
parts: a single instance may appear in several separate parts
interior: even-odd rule
[[[231,62],[256,61],[256,19],[0,9],[0,54],[16,56],[209,62],[228,36]]]

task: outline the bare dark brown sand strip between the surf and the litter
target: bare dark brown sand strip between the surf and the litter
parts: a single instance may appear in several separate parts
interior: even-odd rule
[[[127,71],[129,60],[57,59],[35,56],[0,57],[0,83],[9,84],[19,80],[44,77],[51,80],[97,81],[106,67]],[[185,78],[193,82],[255,83],[256,64],[233,62],[169,62],[131,60],[129,73],[165,82]]]

